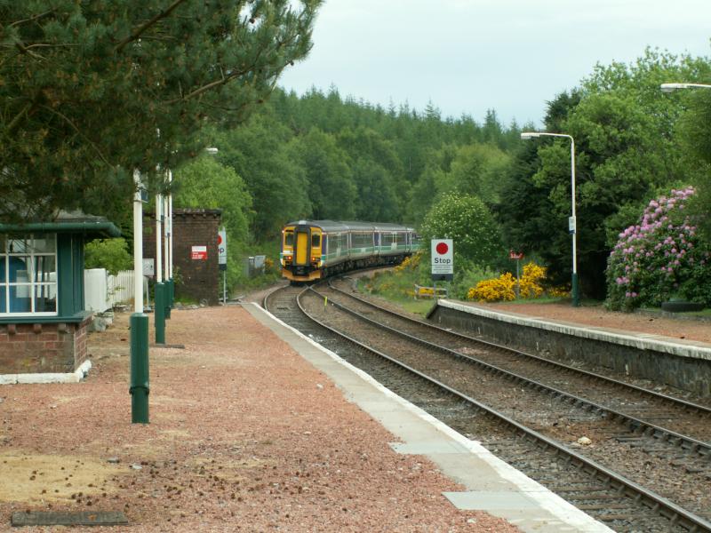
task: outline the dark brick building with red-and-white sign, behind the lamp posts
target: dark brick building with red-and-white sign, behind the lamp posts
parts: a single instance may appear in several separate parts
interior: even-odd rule
[[[190,298],[197,302],[206,302],[209,306],[219,303],[220,267],[217,238],[221,220],[222,211],[219,209],[173,210],[172,263],[175,298]],[[156,259],[155,215],[148,215],[143,227],[143,257]]]

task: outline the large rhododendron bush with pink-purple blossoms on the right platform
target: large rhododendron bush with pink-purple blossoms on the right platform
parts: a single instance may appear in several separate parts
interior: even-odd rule
[[[670,298],[711,303],[709,251],[687,212],[693,187],[652,200],[610,254],[607,302],[612,309],[660,306]]]

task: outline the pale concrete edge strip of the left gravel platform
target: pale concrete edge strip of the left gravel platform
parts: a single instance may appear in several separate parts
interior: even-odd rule
[[[370,376],[260,306],[244,304],[244,309],[317,370],[324,372],[349,402],[355,403],[393,434],[396,442],[390,442],[389,446],[397,454],[427,457],[441,473],[458,483],[460,490],[442,492],[446,505],[463,511],[489,513],[522,531],[611,530],[507,465],[477,442],[470,441],[380,386]]]

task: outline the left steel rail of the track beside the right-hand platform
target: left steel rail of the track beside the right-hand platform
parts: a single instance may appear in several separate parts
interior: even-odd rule
[[[323,296],[316,290],[312,289],[309,287],[308,290],[312,290],[315,294],[319,296]],[[445,346],[439,346],[434,343],[431,343],[427,340],[424,340],[422,338],[417,338],[413,337],[407,333],[403,333],[403,331],[398,331],[395,330],[395,328],[390,328],[389,326],[386,326],[384,324],[381,324],[379,322],[375,322],[374,320],[371,320],[367,316],[364,316],[363,314],[359,314],[353,309],[348,309],[346,306],[341,306],[337,302],[331,302],[332,306],[335,306],[339,309],[341,309],[343,312],[352,314],[356,316],[359,320],[362,320],[363,322],[368,322],[371,323],[372,325],[378,327],[379,329],[383,330],[388,330],[395,335],[398,335],[402,338],[406,338],[407,340],[410,340],[411,342],[417,343],[422,346],[426,346],[428,348],[437,350],[439,352],[442,352],[444,354],[449,354],[457,359],[461,359],[465,362],[469,362],[471,364],[474,364],[475,366],[486,370],[488,372],[491,372],[493,374],[496,374],[498,376],[501,376],[503,378],[507,378],[509,381],[513,381],[516,384],[523,385],[523,386],[528,386],[529,388],[532,388],[533,390],[543,392],[546,394],[549,394],[553,396],[555,399],[564,399],[568,402],[571,402],[573,405],[576,407],[585,407],[587,410],[595,410],[595,412],[604,414],[605,416],[610,416],[612,420],[617,420],[619,423],[625,423],[627,426],[631,427],[633,431],[639,431],[643,430],[642,433],[646,434],[648,436],[653,436],[659,440],[664,440],[664,441],[675,441],[673,444],[681,447],[682,449],[687,449],[693,453],[699,454],[700,457],[711,457],[711,444],[703,441],[698,441],[696,439],[691,438],[688,435],[683,435],[683,434],[678,434],[670,429],[667,429],[665,427],[661,426],[656,426],[654,424],[651,424],[650,422],[646,422],[640,418],[635,418],[627,415],[626,413],[617,411],[617,410],[612,410],[608,407],[605,407],[604,405],[601,405],[599,403],[591,402],[585,398],[581,398],[579,396],[576,396],[574,394],[566,393],[565,391],[562,391],[560,389],[556,389],[555,387],[552,386],[547,386],[539,381],[535,381],[530,378],[526,378],[524,376],[521,376],[520,374],[516,374],[515,372],[511,372],[509,370],[504,370],[498,366],[492,365],[491,363],[488,362],[483,362],[480,359],[476,359],[475,357],[472,357],[470,355],[465,355],[465,354],[459,354],[459,352],[456,352],[452,350],[451,348],[447,348]]]

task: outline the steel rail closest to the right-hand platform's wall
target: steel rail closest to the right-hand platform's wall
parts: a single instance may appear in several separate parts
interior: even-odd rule
[[[699,411],[699,413],[701,413],[701,414],[711,417],[711,407],[707,407],[705,405],[700,405],[699,403],[689,402],[687,400],[683,400],[682,398],[675,398],[674,396],[669,396],[668,394],[661,394],[661,393],[658,393],[655,391],[651,391],[651,390],[643,388],[641,386],[636,386],[636,385],[632,385],[630,383],[625,383],[624,381],[619,381],[619,379],[608,378],[607,376],[603,376],[602,374],[597,374],[597,373],[591,372],[589,370],[576,369],[576,368],[571,367],[569,365],[563,364],[562,362],[551,361],[550,359],[546,359],[545,357],[540,357],[539,355],[535,355],[535,354],[529,354],[528,352],[516,350],[516,349],[511,348],[509,346],[499,345],[499,344],[496,344],[496,343],[491,342],[489,340],[483,340],[482,338],[470,337],[468,335],[465,335],[464,333],[459,333],[458,331],[447,330],[447,329],[437,326],[435,324],[421,322],[421,321],[415,320],[409,316],[405,316],[404,314],[396,313],[395,311],[386,309],[385,307],[377,306],[364,298],[357,297],[354,294],[349,294],[345,290],[341,290],[338,287],[334,287],[332,285],[331,281],[329,281],[329,288],[332,290],[335,290],[336,292],[340,292],[340,294],[342,294],[343,296],[356,299],[359,302],[361,302],[363,305],[374,307],[374,308],[378,309],[379,311],[382,311],[383,313],[391,314],[391,315],[396,316],[397,318],[400,318],[404,321],[415,323],[415,324],[418,324],[421,326],[426,326],[427,328],[431,328],[432,330],[437,330],[443,334],[450,335],[452,337],[465,338],[471,342],[474,342],[477,344],[482,344],[484,346],[489,346],[492,348],[496,348],[501,351],[507,352],[509,354],[523,355],[524,357],[530,358],[536,362],[541,362],[541,363],[547,364],[549,366],[554,366],[555,368],[571,372],[572,374],[583,375],[587,378],[593,378],[598,381],[602,381],[602,382],[605,382],[605,383],[608,383],[608,384],[611,384],[614,386],[619,386],[621,388],[633,390],[638,394],[644,394],[644,395],[651,396],[651,397],[659,399],[659,400],[664,400],[665,402],[672,403],[677,407],[681,406],[686,409],[696,410],[696,411]]]

